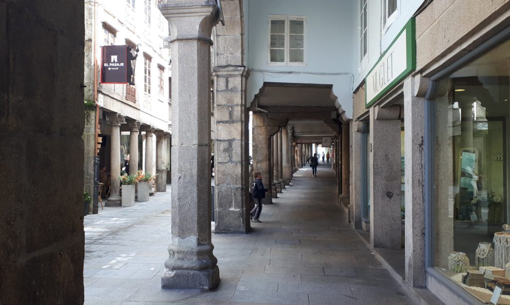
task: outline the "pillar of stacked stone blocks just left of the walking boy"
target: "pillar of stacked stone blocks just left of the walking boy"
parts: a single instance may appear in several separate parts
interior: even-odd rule
[[[215,233],[246,233],[249,225],[248,112],[245,67],[215,67]]]

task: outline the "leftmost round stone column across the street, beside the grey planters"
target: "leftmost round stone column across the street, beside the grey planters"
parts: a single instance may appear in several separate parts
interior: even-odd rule
[[[109,113],[108,118],[112,126],[110,140],[110,197],[105,202],[106,206],[120,206],[120,123],[124,117],[118,113]]]

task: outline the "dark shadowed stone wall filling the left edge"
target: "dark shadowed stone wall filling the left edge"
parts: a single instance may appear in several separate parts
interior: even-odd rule
[[[2,1],[0,41],[0,303],[82,304],[83,2]]]

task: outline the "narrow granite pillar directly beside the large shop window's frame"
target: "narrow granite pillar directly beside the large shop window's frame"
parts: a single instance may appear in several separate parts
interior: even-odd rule
[[[425,287],[425,99],[427,78],[404,81],[405,281]],[[419,96],[419,97],[418,97]]]

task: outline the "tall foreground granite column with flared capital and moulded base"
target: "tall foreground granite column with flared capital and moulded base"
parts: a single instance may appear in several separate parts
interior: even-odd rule
[[[211,32],[214,2],[158,4],[172,28],[172,241],[162,288],[219,284],[211,242]]]

